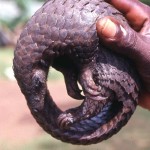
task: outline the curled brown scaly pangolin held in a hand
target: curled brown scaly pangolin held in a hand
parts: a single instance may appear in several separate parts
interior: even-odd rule
[[[38,124],[72,144],[93,144],[117,133],[138,103],[132,62],[102,46],[96,21],[127,21],[103,0],[49,0],[29,20],[15,49],[15,77]],[[84,99],[62,112],[47,89],[52,66],[62,72],[68,94]],[[84,95],[78,87],[80,83]]]

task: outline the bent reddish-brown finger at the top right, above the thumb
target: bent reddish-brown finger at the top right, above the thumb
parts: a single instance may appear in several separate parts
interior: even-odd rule
[[[140,31],[143,24],[149,19],[149,6],[138,0],[106,0],[122,12],[134,30]]]

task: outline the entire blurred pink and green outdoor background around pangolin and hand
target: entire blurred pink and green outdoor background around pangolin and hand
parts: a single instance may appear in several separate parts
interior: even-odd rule
[[[150,150],[150,112],[140,107],[117,135],[91,146],[74,146],[55,140],[32,118],[14,79],[12,59],[21,30],[43,2],[0,0],[0,150]],[[150,5],[150,0],[143,2]],[[48,86],[62,109],[79,105],[68,97],[62,75],[53,69]]]

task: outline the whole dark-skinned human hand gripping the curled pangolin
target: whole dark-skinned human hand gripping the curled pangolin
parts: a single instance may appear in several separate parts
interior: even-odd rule
[[[150,7],[138,0],[105,1],[124,14],[130,27],[108,16],[97,22],[98,34],[106,46],[134,61],[143,83],[139,105],[150,110]]]

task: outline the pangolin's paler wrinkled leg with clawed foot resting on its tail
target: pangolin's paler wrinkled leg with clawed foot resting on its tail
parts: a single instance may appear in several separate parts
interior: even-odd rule
[[[100,86],[96,86],[92,78],[92,72],[87,69],[80,75],[80,84],[82,85],[85,99],[81,106],[69,109],[58,117],[58,124],[61,128],[67,128],[70,124],[80,120],[87,119],[98,114],[106,104],[108,93],[101,93]]]

